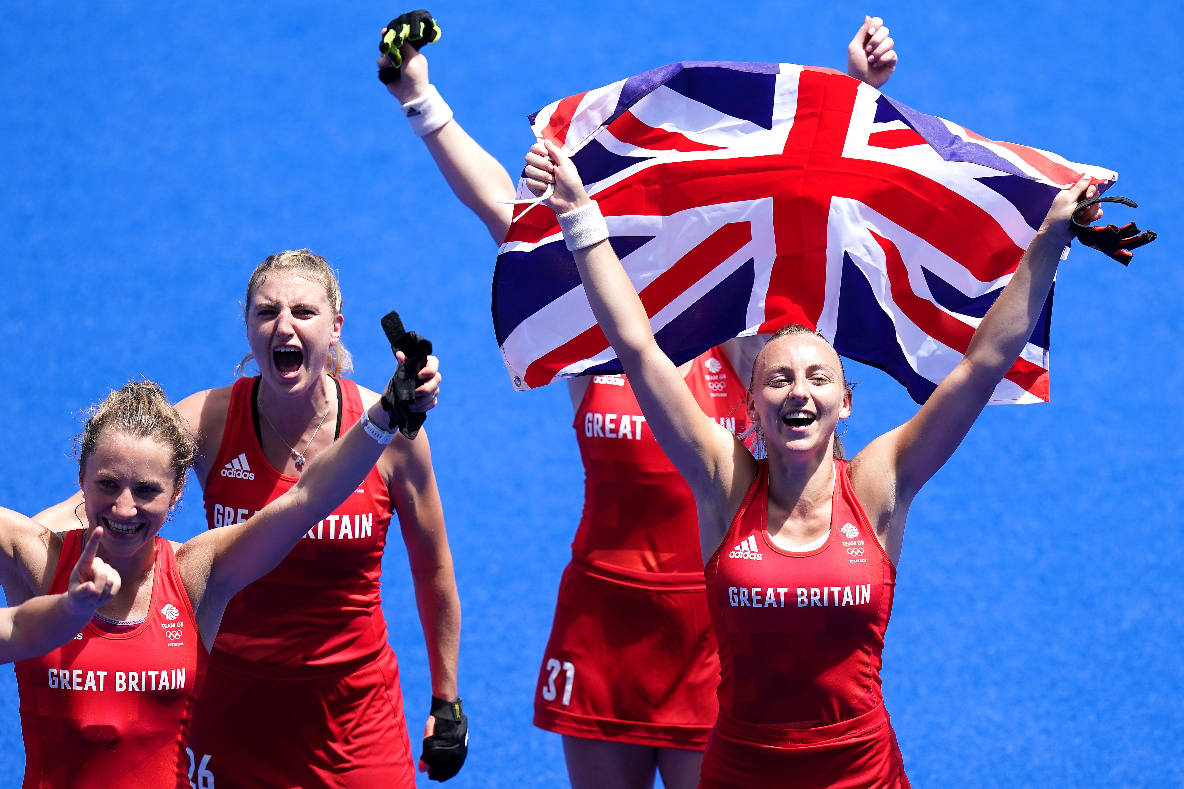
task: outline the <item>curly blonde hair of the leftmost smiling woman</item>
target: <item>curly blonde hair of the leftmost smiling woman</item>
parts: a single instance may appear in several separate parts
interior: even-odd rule
[[[86,460],[95,453],[98,440],[108,433],[153,439],[172,450],[169,465],[176,490],[185,483],[185,472],[193,465],[198,453],[193,434],[168,402],[165,390],[152,381],[131,381],[91,407],[86,426],[75,438],[79,484],[86,473]]]

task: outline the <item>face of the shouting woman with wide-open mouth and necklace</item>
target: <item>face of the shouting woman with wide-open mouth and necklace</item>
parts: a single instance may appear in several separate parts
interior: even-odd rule
[[[259,374],[270,386],[279,392],[303,392],[324,373],[343,323],[323,284],[277,271],[251,293],[246,339]]]

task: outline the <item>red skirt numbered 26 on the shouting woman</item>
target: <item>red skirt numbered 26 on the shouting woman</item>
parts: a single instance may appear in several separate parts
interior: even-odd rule
[[[218,789],[416,785],[399,665],[385,645],[348,664],[296,668],[213,651],[189,749],[200,787],[202,768]]]

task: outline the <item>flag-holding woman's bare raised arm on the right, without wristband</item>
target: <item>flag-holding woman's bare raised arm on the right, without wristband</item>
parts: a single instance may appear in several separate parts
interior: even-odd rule
[[[892,525],[893,515],[907,511],[916,491],[961,444],[1036,326],[1061,253],[1072,238],[1069,218],[1077,201],[1095,192],[1089,177],[1082,176],[1056,196],[1011,282],[974,330],[958,367],[913,419],[877,438],[855,458],[851,479],[873,523],[879,518],[882,526]],[[1101,213],[1095,205],[1079,219],[1092,222]],[[893,544],[889,536],[889,551]],[[899,537],[895,545],[899,552]]]

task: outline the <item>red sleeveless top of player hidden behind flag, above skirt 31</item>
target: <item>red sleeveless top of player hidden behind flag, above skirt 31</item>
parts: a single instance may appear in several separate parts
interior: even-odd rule
[[[684,381],[704,414],[733,433],[748,426],[745,388],[722,348],[695,358]],[[584,459],[577,561],[701,582],[695,497],[654,440],[629,379],[592,376],[574,427]]]

